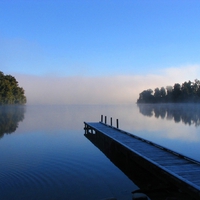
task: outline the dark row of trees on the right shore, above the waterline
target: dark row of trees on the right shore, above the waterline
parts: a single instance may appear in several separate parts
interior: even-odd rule
[[[200,103],[200,81],[188,81],[167,86],[144,90],[139,94],[137,103]]]

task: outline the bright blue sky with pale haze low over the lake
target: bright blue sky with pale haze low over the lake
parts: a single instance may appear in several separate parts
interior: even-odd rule
[[[131,87],[200,79],[200,1],[0,0],[0,71],[16,76],[31,103],[56,84],[75,88],[75,99],[117,87],[120,103],[137,98]],[[78,103],[73,96],[59,103]]]

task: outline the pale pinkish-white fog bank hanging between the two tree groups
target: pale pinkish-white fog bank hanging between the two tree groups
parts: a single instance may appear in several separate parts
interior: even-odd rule
[[[199,66],[168,68],[158,74],[124,76],[33,76],[14,74],[27,104],[130,104],[145,89],[198,78]]]

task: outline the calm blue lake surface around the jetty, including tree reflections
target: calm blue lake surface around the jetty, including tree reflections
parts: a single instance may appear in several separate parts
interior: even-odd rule
[[[131,199],[137,185],[84,136],[101,115],[200,161],[198,105],[1,106],[1,199]]]

